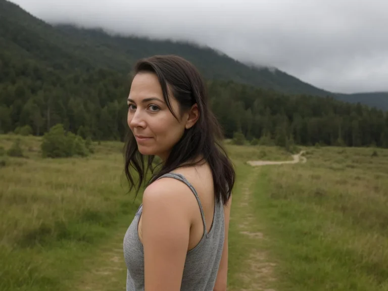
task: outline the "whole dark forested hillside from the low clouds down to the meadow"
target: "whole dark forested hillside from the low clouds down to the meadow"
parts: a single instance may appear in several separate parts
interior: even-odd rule
[[[248,139],[262,137],[279,145],[294,139],[300,144],[388,147],[386,113],[313,96],[325,92],[211,49],[53,27],[5,0],[0,0],[0,43],[1,132],[29,125],[41,135],[63,123],[94,139],[123,139],[133,63],[148,55],[177,54],[208,79],[212,107],[226,137],[241,131]]]

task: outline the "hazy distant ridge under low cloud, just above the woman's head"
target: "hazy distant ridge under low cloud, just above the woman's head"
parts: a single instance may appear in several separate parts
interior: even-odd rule
[[[57,28],[67,33],[69,37],[80,41],[87,40],[101,53],[113,50],[116,55],[109,58],[111,68],[121,67],[123,59],[133,63],[139,58],[156,54],[177,54],[195,64],[208,79],[233,80],[284,93],[306,93],[321,96],[329,93],[277,69],[247,66],[210,47],[182,41],[113,36],[108,35],[103,30],[82,29],[70,25],[60,25]],[[125,69],[128,68],[125,67]]]

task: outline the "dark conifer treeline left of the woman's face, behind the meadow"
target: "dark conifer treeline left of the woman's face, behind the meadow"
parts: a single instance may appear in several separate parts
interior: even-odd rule
[[[72,74],[0,55],[0,131],[24,125],[42,135],[58,123],[93,139],[123,139],[127,76],[92,69]]]

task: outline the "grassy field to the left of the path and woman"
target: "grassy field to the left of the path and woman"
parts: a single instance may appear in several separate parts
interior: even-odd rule
[[[1,135],[0,146],[16,138],[26,157],[0,167],[0,290],[66,290],[139,205],[123,176],[122,144],[96,145],[88,158],[42,159],[37,137]]]

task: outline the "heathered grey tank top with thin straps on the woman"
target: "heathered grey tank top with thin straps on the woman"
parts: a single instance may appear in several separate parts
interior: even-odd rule
[[[181,291],[213,291],[224,245],[224,211],[222,203],[215,203],[214,216],[209,233],[204,211],[197,191],[181,174],[169,173],[161,176],[175,178],[185,183],[197,198],[200,206],[204,234],[199,244],[186,253]],[[123,241],[124,259],[127,265],[127,291],[144,291],[144,253],[138,236],[142,205],[138,208]]]

